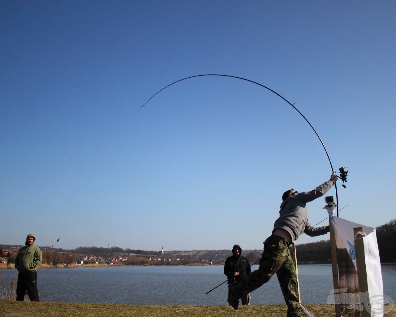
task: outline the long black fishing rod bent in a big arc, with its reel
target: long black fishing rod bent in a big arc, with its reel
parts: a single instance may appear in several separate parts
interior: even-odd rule
[[[187,79],[190,79],[190,78],[196,78],[196,77],[202,77],[202,76],[221,76],[221,77],[229,77],[229,78],[236,78],[236,79],[240,79],[240,80],[245,80],[245,81],[247,81],[247,82],[251,82],[252,84],[259,85],[259,86],[261,86],[261,87],[263,87],[263,88],[269,90],[270,92],[274,93],[274,94],[277,95],[278,97],[282,98],[282,99],[283,99],[284,101],[286,101],[289,105],[291,105],[291,107],[293,107],[293,109],[294,109],[295,111],[297,111],[297,112],[299,113],[299,115],[301,115],[301,116],[304,118],[304,120],[308,123],[308,125],[309,125],[309,126],[312,128],[312,130],[315,132],[315,134],[316,134],[316,136],[318,137],[320,143],[322,144],[322,147],[323,147],[324,151],[326,152],[327,159],[329,160],[329,163],[330,163],[331,172],[335,172],[335,170],[333,169],[333,164],[331,164],[331,160],[330,160],[329,153],[327,153],[327,149],[326,149],[326,147],[324,146],[324,143],[323,143],[322,139],[320,138],[318,132],[316,132],[316,130],[314,129],[314,127],[312,126],[312,124],[310,124],[310,122],[308,121],[308,119],[307,119],[307,118],[295,107],[295,103],[292,104],[290,101],[288,101],[286,98],[282,97],[280,94],[278,94],[278,93],[275,92],[274,90],[272,90],[272,89],[268,88],[267,86],[264,86],[264,85],[262,85],[262,84],[260,84],[260,83],[258,83],[258,82],[255,82],[255,81],[253,81],[253,80],[249,80],[249,79],[247,79],[247,78],[245,78],[245,77],[242,78],[242,77],[238,77],[238,76],[224,75],[224,74],[200,74],[200,75],[194,75],[194,76],[185,77],[185,78],[176,80],[175,82],[172,82],[171,84],[169,84],[169,85],[165,86],[164,88],[158,90],[158,92],[156,92],[154,95],[152,95],[152,96],[151,96],[145,103],[143,103],[143,105],[141,105],[140,107],[142,108],[142,107],[143,107],[146,103],[148,103],[148,101],[150,101],[155,95],[159,94],[160,92],[162,92],[162,90],[168,88],[169,86],[172,86],[173,84],[176,84],[177,82],[181,82],[182,80],[187,80]],[[339,169],[339,171],[340,171],[340,176],[339,176],[339,178],[341,178],[341,180],[343,180],[343,187],[345,187],[345,183],[344,183],[344,182],[347,181],[346,176],[347,176],[347,174],[348,174],[348,168],[346,168],[346,170],[345,170],[344,167],[341,167],[341,168]],[[338,217],[338,191],[337,191],[337,183],[335,183],[334,187],[335,187],[335,201],[336,201],[336,204],[337,204],[337,217]]]

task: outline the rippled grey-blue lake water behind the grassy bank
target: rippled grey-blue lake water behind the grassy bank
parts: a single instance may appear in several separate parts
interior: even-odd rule
[[[252,271],[258,265],[252,266]],[[384,294],[396,301],[396,264],[381,265]],[[333,290],[331,264],[299,265],[301,302],[324,304]],[[17,277],[2,269],[0,278]],[[40,300],[47,302],[158,305],[227,305],[227,277],[223,266],[124,266],[39,269]],[[278,279],[251,293],[252,305],[284,304]]]

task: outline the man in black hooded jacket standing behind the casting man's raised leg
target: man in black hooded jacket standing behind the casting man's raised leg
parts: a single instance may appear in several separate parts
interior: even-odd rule
[[[238,244],[232,248],[232,256],[228,257],[224,263],[224,274],[227,275],[228,288],[242,281],[251,273],[250,263],[247,258],[241,256],[242,249]],[[228,292],[228,302],[230,301],[230,292]],[[242,305],[250,305],[250,293],[241,297]]]

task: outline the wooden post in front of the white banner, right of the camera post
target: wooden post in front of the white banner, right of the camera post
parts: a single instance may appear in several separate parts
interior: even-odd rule
[[[369,302],[366,302],[364,299],[368,298],[368,284],[367,284],[367,271],[366,271],[366,258],[364,257],[364,242],[363,242],[363,229],[362,227],[353,228],[353,233],[355,237],[355,255],[356,255],[356,268],[358,270],[358,283],[359,283],[359,293],[366,294],[366,296],[362,296],[363,303],[361,303],[364,307],[362,309],[361,316],[362,317],[370,317],[371,313],[366,309],[366,306],[369,305]]]

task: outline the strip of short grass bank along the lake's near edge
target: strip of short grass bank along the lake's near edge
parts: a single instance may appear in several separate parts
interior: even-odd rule
[[[334,305],[305,305],[315,317],[334,317]],[[77,304],[53,302],[15,302],[0,300],[4,317],[285,317],[285,305],[242,306],[234,311],[230,306],[188,305],[126,305],[126,304]],[[396,317],[395,307],[386,317]]]

